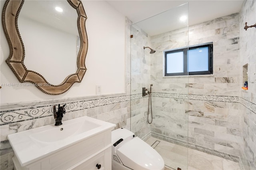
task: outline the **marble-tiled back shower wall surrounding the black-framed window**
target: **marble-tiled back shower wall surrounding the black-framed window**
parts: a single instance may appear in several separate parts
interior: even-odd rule
[[[214,47],[213,75],[163,77],[164,50],[208,42]],[[188,141],[192,148],[238,162],[239,13],[152,36],[151,45],[158,51],[151,58],[153,136]]]

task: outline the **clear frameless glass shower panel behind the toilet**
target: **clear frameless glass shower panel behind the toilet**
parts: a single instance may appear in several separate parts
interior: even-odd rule
[[[164,76],[164,51],[188,47],[188,19],[180,18],[188,3],[132,24],[130,41],[131,131],[175,170],[188,169],[189,84],[188,75]]]

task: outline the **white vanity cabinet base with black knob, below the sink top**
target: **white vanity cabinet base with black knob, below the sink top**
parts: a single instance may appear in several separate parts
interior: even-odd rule
[[[108,130],[26,166],[20,165],[15,153],[12,159],[16,170],[111,170],[111,145]]]

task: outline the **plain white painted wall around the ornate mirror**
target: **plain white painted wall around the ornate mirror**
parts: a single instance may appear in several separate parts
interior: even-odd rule
[[[0,3],[2,13],[4,1]],[[105,1],[83,0],[82,3],[88,17],[86,20],[87,71],[82,82],[75,83],[62,95],[47,95],[36,87],[4,86],[4,84],[19,82],[5,63],[9,55],[9,47],[1,29],[1,103],[92,96],[96,95],[96,85],[101,85],[102,95],[125,92],[125,16]],[[58,75],[53,73],[53,76]]]

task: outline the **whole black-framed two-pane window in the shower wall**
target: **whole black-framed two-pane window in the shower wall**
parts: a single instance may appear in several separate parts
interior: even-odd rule
[[[193,45],[164,52],[165,76],[213,73],[213,43]]]

